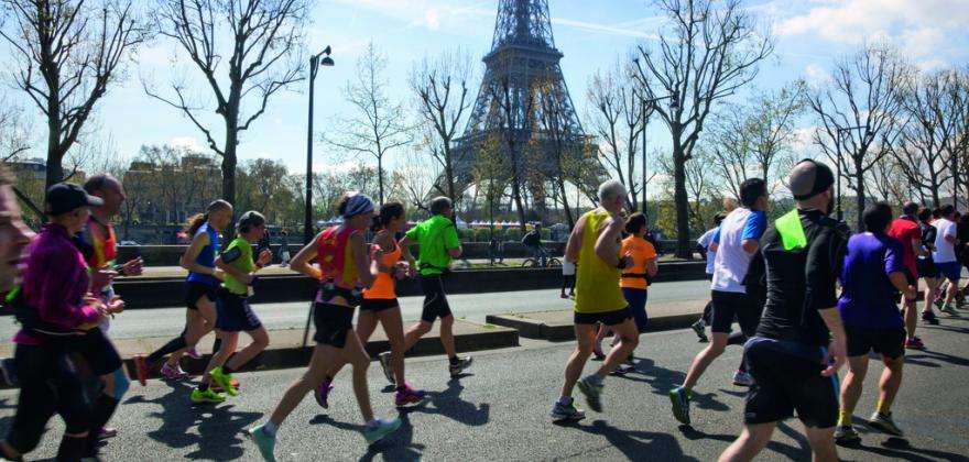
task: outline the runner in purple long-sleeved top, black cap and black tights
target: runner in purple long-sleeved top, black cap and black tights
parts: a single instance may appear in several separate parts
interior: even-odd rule
[[[51,186],[44,202],[50,221],[30,244],[22,285],[7,295],[7,304],[21,323],[13,338],[21,387],[17,416],[7,439],[0,442],[0,453],[4,459],[21,460],[37,447],[56,413],[66,426],[57,460],[78,461],[97,457],[97,448],[88,443],[91,408],[67,354],[84,334],[78,329],[97,324],[116,306],[87,296],[91,278],[70,237],[87,222],[88,207],[104,202],[67,183]],[[20,242],[24,234],[18,237]]]

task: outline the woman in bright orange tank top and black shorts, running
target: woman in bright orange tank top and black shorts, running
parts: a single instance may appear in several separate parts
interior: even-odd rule
[[[409,274],[416,275],[412,266],[402,260],[402,248],[394,240],[394,235],[405,224],[407,224],[407,216],[401,202],[384,204],[380,207],[380,215],[373,218],[371,230],[377,234],[373,237],[372,253],[375,255],[379,250],[383,256],[372,257],[378,262],[379,272],[373,286],[363,289],[363,302],[360,305],[360,316],[357,318],[357,337],[364,345],[377,329],[377,322],[383,326],[391,351],[382,352],[377,358],[380,360],[383,376],[392,385],[396,385],[394,394],[396,406],[420,403],[424,399],[424,392],[415,389],[404,380],[404,322],[401,317],[401,305],[398,302],[395,280]],[[327,397],[333,389],[333,377],[344,365],[346,363],[341,362],[334,367],[316,389],[316,400],[323,408],[329,407]]]

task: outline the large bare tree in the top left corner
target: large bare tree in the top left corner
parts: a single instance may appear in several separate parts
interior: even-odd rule
[[[64,156],[145,30],[130,0],[2,0],[2,8],[14,85],[46,118],[50,186],[64,178]]]

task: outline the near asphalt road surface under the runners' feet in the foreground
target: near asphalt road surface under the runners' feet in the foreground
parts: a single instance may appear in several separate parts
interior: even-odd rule
[[[862,446],[840,450],[843,460],[904,459],[966,461],[969,454],[969,321],[943,319],[923,328],[929,351],[910,352],[905,382],[893,407],[907,440],[892,439],[859,426]],[[701,348],[689,331],[644,334],[638,373],[606,383],[605,411],[589,413],[575,426],[557,426],[548,411],[558,395],[563,366],[573,343],[529,342],[476,358],[470,375],[449,381],[440,356],[407,361],[409,381],[429,399],[401,415],[403,427],[385,441],[366,447],[349,374],[338,377],[330,409],[307,397],[280,430],[282,461],[309,460],[715,460],[741,428],[744,391],[730,385],[741,351],[730,348],[707,371],[696,389],[693,427],[678,426],[667,391]],[[590,363],[591,371],[597,363]],[[370,393],[379,415],[396,414],[377,366]],[[874,408],[875,377],[869,381],[856,413]],[[262,421],[301,370],[239,374],[241,394],[219,406],[193,407],[188,384],[151,381],[135,385],[113,425],[120,435],[102,449],[106,460],[255,460],[254,446],[240,435]],[[0,392],[0,431],[13,413],[14,392]],[[579,402],[581,399],[579,398]],[[55,419],[57,420],[57,419]],[[782,424],[760,460],[808,460],[796,420]],[[53,457],[63,426],[54,421],[34,458]]]

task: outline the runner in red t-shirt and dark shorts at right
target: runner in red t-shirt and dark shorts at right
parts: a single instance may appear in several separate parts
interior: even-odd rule
[[[905,264],[905,280],[912,286],[913,290],[918,290],[918,265],[916,256],[923,256],[925,251],[922,248],[922,230],[916,219],[918,213],[918,205],[912,201],[902,206],[902,216],[892,220],[889,228],[889,235],[902,243],[902,261]],[[915,337],[915,327],[917,324],[917,310],[915,298],[903,298],[902,310],[905,318],[905,344],[913,346],[922,345],[922,339]]]

